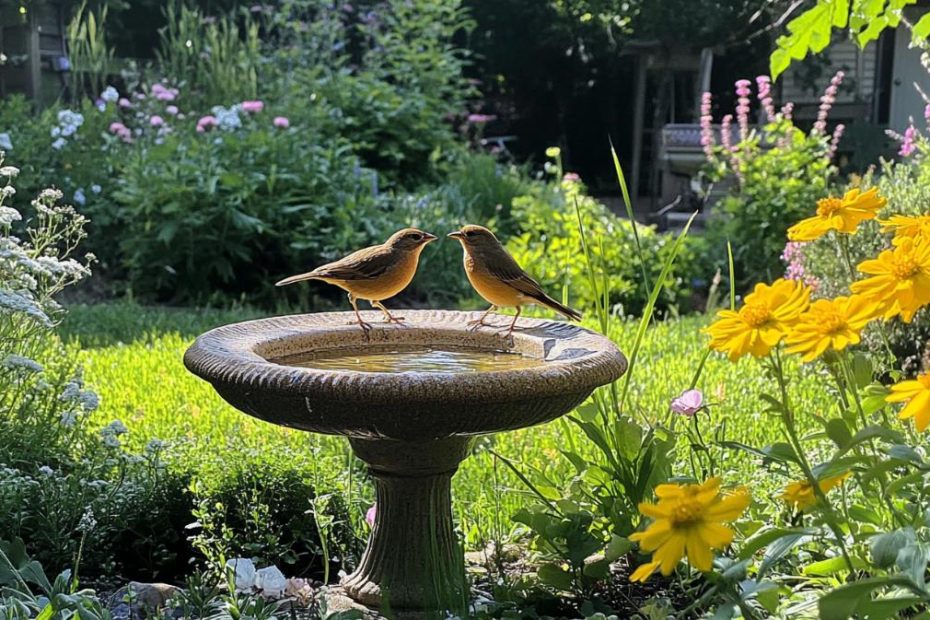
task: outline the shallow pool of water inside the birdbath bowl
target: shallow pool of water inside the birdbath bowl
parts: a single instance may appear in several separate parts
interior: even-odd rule
[[[519,370],[546,363],[541,359],[506,351],[396,346],[316,350],[270,361],[316,370],[425,374]]]

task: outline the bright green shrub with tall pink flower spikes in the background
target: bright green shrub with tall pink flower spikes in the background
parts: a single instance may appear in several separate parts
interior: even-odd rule
[[[781,272],[788,227],[827,193],[828,181],[836,172],[831,159],[842,127],[831,139],[826,134],[826,118],[841,80],[842,74],[833,79],[809,133],[792,121],[792,104],[775,111],[765,76],[758,78],[758,95],[766,118],[760,128],[750,129],[749,81],[737,82],[736,124],[732,115],[724,117],[719,146],[714,146],[710,126],[710,94],[704,95],[702,142],[709,160],[708,179],[733,179],[732,191],[715,206],[720,213],[709,222],[708,241],[714,249],[712,262],[724,273],[728,271],[727,241],[731,243],[741,290]],[[733,129],[738,129],[737,140],[731,137]]]

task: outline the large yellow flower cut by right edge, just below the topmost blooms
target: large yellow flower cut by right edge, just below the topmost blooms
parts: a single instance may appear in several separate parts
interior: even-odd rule
[[[854,282],[853,293],[875,301],[885,319],[901,315],[910,323],[930,304],[930,237],[901,237],[897,247],[859,263],[871,278]]]

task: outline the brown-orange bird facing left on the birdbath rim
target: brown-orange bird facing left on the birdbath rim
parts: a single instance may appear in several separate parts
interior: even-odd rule
[[[484,322],[485,318],[499,306],[517,309],[517,314],[513,317],[510,329],[507,331],[508,336],[512,336],[517,319],[520,318],[520,312],[527,304],[545,306],[573,321],[581,319],[580,312],[546,295],[539,283],[520,268],[494,233],[487,228],[469,224],[449,233],[448,236],[458,239],[462,244],[462,249],[465,250],[465,273],[468,281],[478,294],[491,304],[487,312],[473,322],[475,327],[487,325]]]

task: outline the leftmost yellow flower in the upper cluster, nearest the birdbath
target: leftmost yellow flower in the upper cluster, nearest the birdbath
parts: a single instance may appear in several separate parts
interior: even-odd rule
[[[767,355],[810,304],[810,289],[796,280],[775,280],[771,286],[756,284],[738,312],[721,310],[705,331],[710,347],[723,351],[735,362],[751,353]]]

